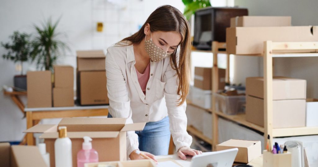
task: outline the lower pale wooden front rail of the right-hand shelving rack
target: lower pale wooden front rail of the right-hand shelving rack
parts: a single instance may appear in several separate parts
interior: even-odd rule
[[[273,137],[317,135],[318,127],[297,127],[273,129]]]

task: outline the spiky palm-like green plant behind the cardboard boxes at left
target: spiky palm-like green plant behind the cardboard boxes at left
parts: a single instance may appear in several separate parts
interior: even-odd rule
[[[65,42],[59,40],[63,33],[58,32],[59,20],[52,23],[51,18],[42,23],[42,26],[34,25],[36,34],[32,40],[31,61],[37,60],[37,69],[53,70],[57,58],[65,49],[69,49]]]

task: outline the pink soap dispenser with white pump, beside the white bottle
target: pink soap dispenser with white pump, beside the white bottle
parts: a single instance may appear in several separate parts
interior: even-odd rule
[[[84,167],[85,163],[98,162],[98,153],[92,148],[92,138],[84,136],[82,150],[77,153],[77,167]]]

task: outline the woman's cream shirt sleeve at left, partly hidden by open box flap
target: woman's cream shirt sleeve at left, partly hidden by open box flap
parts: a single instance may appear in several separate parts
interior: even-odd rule
[[[107,95],[109,98],[108,111],[114,118],[127,118],[126,124],[133,123],[126,81],[120,66],[114,59],[114,56],[116,56],[116,51],[112,52],[111,49],[107,49],[105,63],[108,91]],[[135,134],[134,131],[128,131],[127,158],[132,151],[138,149],[138,145],[137,134]]]

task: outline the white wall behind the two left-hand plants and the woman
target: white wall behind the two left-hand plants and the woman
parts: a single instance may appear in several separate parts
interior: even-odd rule
[[[58,26],[60,32],[67,35],[71,51],[61,56],[58,64],[68,64],[76,68],[76,50],[106,49],[115,42],[136,32],[149,14],[158,6],[170,4],[181,12],[184,5],[181,0],[10,0],[0,5],[0,41],[8,42],[13,31],[34,33],[33,24],[52,16],[61,17]],[[96,23],[104,23],[104,31],[96,32]],[[0,47],[0,55],[5,53]],[[25,63],[26,70],[35,66]],[[0,58],[0,87],[13,86],[15,71],[11,61]],[[26,98],[22,100],[26,102]],[[9,96],[0,95],[0,142],[20,141],[22,131],[26,129],[23,114]]]

